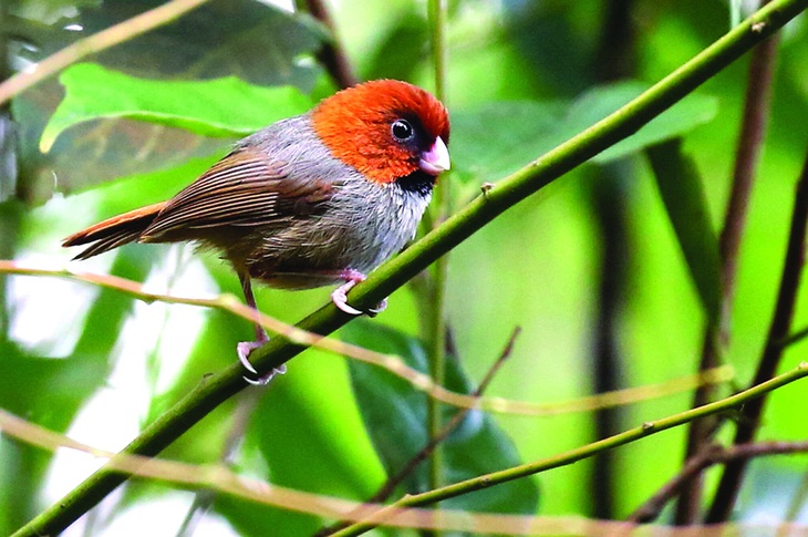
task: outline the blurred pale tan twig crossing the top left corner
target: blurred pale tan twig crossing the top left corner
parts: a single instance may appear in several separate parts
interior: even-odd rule
[[[83,60],[90,54],[96,54],[172,22],[207,1],[170,0],[163,6],[145,11],[137,17],[127,19],[89,38],[80,39],[37,63],[33,70],[18,73],[0,84],[0,104],[43,80],[53,76],[64,68]]]

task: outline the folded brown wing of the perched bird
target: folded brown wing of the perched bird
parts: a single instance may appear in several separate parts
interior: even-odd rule
[[[230,153],[168,200],[139,240],[204,238],[214,228],[282,225],[321,210],[333,182],[284,167],[257,149]]]

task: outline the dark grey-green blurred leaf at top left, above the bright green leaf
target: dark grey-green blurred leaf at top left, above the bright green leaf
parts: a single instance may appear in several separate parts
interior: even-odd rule
[[[81,6],[61,28],[73,40],[138,16],[162,0],[104,0]],[[320,69],[299,61],[324,39],[308,17],[255,0],[213,0],[168,24],[107,49],[93,59],[107,68],[143,78],[218,79],[235,75],[260,85],[296,85],[308,91]],[[55,52],[52,42],[40,56]]]

